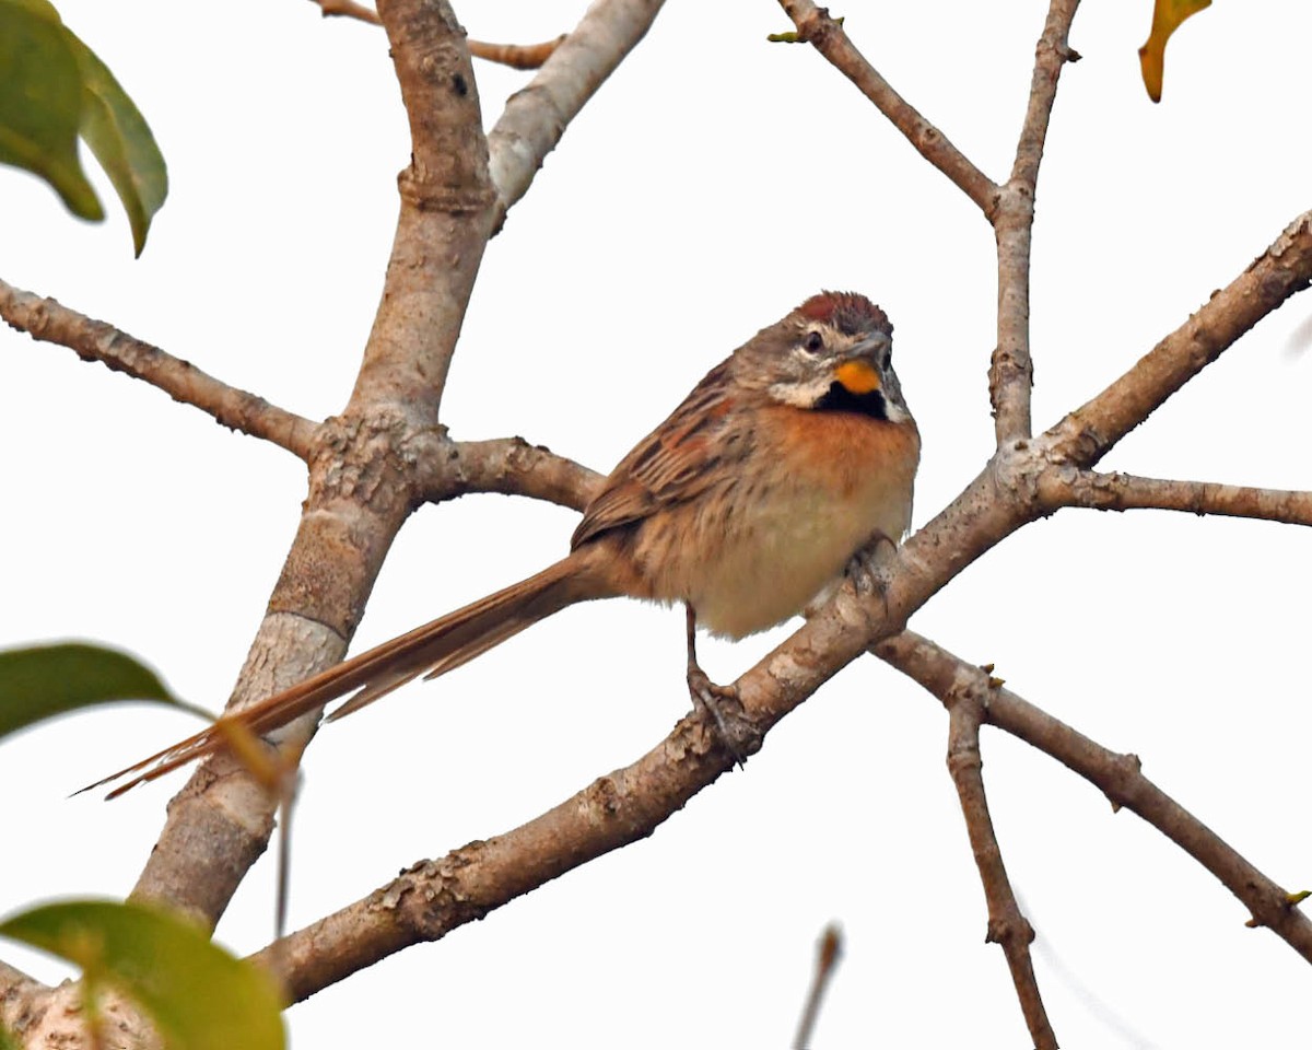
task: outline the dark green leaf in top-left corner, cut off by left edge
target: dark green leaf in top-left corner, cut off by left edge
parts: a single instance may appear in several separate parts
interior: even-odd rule
[[[0,163],[39,175],[75,215],[102,219],[77,159],[81,112],[81,71],[58,12],[0,0]]]

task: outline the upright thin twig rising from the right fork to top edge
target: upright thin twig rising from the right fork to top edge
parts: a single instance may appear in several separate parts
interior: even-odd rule
[[[1030,101],[1015,147],[1012,177],[1001,188],[996,211],[991,215],[997,235],[997,346],[989,362],[988,385],[993,429],[1000,446],[1031,433],[1030,245],[1034,196],[1057,77],[1067,62],[1078,58],[1067,43],[1078,5],[1078,0],[1052,0],[1048,8],[1043,34],[1035,47]]]

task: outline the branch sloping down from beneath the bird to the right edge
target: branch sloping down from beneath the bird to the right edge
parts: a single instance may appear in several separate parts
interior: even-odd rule
[[[988,672],[912,631],[884,639],[875,646],[875,654],[935,697],[950,694],[960,682],[989,689]],[[989,724],[1051,755],[1101,789],[1114,807],[1139,814],[1244,902],[1253,914],[1253,925],[1269,927],[1312,962],[1312,921],[1283,889],[1149,781],[1138,756],[1109,751],[1005,688],[992,688],[988,697],[984,717]]]

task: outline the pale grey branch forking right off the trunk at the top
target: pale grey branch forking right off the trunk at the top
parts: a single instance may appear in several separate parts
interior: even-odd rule
[[[569,122],[647,34],[663,3],[596,0],[533,81],[506,101],[488,134],[497,228]]]

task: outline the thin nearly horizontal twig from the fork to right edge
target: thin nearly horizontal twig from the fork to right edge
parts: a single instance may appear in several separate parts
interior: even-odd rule
[[[1057,495],[1061,487],[1065,488],[1064,496]],[[1098,511],[1185,511],[1191,514],[1312,525],[1312,492],[1287,488],[1164,480],[1080,470],[1073,476],[1054,472],[1044,480],[1044,491],[1050,499],[1063,499],[1068,507],[1093,507]]]

